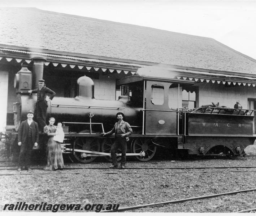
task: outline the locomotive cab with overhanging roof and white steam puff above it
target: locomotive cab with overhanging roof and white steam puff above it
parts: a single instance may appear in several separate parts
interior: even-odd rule
[[[118,81],[118,85],[129,85],[132,90],[131,103],[142,106],[142,134],[152,136],[179,135],[180,89],[192,84],[193,81],[177,80],[170,71],[157,67],[140,68],[136,75]]]

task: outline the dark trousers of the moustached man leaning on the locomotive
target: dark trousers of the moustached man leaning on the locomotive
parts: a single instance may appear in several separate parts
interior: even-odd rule
[[[126,150],[127,150],[127,144],[126,144],[126,139],[125,138],[116,137],[114,143],[111,146],[110,154],[111,154],[112,163],[113,163],[114,166],[118,165],[117,158],[116,158],[116,152],[117,152],[118,148],[121,148],[121,152],[122,152],[121,166],[125,166]]]

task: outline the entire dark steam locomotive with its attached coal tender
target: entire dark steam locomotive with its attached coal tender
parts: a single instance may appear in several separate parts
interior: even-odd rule
[[[109,151],[114,135],[103,138],[101,133],[112,129],[117,112],[124,113],[125,121],[134,131],[127,156],[133,155],[140,161],[150,160],[157,147],[166,148],[169,154],[234,157],[253,144],[253,110],[201,107],[187,112],[179,109],[180,87],[194,82],[170,77],[170,71],[164,68],[158,71],[156,77],[155,68],[140,68],[134,76],[119,80],[121,96],[118,100],[95,99],[94,82],[86,76],[78,78],[75,98],[56,96],[49,100],[47,120],[52,116],[56,122],[63,123],[65,153],[83,163],[96,157],[111,160]],[[27,110],[33,110],[36,103],[36,95],[28,93],[32,89],[32,73],[25,64],[16,74],[14,87],[17,99],[13,112],[17,131],[20,122],[26,119]],[[170,92],[174,91],[177,91],[174,99],[178,109],[170,108],[173,103]],[[40,134],[36,149],[44,148],[45,140],[45,135]]]

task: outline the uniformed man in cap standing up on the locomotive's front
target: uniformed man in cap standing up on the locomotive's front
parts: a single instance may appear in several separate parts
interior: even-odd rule
[[[47,111],[47,101],[46,96],[49,96],[49,99],[52,100],[55,92],[51,89],[44,86],[44,80],[39,80],[39,87],[34,90],[29,90],[29,93],[37,93],[36,100],[36,119],[39,124],[39,130],[43,131],[44,126],[46,126],[46,111]]]

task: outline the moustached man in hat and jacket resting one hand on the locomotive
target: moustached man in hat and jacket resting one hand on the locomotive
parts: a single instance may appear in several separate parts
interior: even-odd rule
[[[116,114],[118,122],[115,123],[113,129],[107,133],[102,133],[103,136],[111,135],[115,133],[115,141],[111,146],[110,154],[112,157],[112,163],[113,165],[109,168],[118,168],[117,158],[116,158],[116,152],[117,149],[120,147],[122,152],[121,157],[121,168],[125,168],[125,162],[126,162],[126,150],[127,150],[127,141],[129,141],[129,136],[133,132],[131,129],[131,126],[128,122],[123,121],[124,114],[121,112],[118,112]]]

